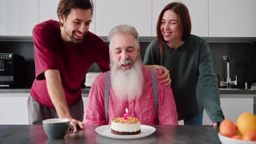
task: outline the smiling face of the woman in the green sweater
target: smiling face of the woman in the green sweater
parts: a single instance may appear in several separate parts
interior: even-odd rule
[[[161,34],[168,43],[180,40],[178,31],[178,16],[172,10],[166,10],[161,20]]]

